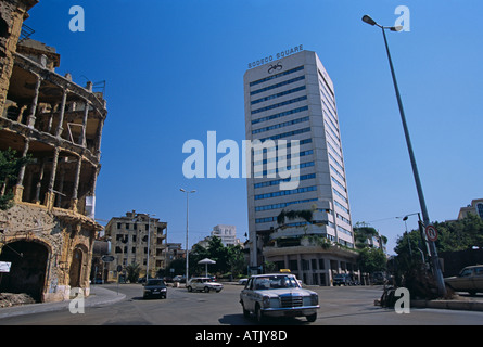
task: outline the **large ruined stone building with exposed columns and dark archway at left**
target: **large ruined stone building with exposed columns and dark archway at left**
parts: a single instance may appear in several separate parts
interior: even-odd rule
[[[0,150],[29,156],[16,182],[14,206],[0,211],[0,292],[38,301],[89,295],[93,219],[106,104],[92,83],[55,73],[60,55],[21,36],[37,0],[0,2]]]

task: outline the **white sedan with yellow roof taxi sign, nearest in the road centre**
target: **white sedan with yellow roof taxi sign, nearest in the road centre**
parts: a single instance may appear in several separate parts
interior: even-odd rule
[[[254,313],[262,322],[265,317],[306,317],[317,319],[319,297],[316,292],[303,290],[295,275],[272,273],[252,275],[240,293],[243,316]]]

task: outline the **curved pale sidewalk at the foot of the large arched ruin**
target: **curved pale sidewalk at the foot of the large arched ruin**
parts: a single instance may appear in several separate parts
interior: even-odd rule
[[[106,290],[97,285],[90,287],[90,295],[85,298],[84,307],[93,307],[101,305],[110,305],[120,301],[126,298],[126,295]],[[22,316],[22,314],[33,314],[41,312],[51,312],[59,310],[68,310],[68,305],[71,300],[60,301],[60,303],[41,303],[41,304],[27,304],[13,307],[0,308],[0,319]],[[1,324],[1,321],[0,321]]]

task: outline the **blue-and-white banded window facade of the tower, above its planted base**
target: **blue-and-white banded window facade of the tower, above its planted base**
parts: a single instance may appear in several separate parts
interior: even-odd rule
[[[277,154],[278,141],[289,144],[281,158],[272,153],[267,158],[267,150],[263,159],[251,156],[252,167],[264,167],[247,180],[250,240],[267,233],[274,241],[319,234],[352,248],[354,235],[332,81],[315,52],[303,51],[276,63],[277,72],[267,64],[244,76],[247,140],[271,140]],[[291,140],[300,141],[298,155],[289,151]],[[290,178],[297,180],[295,189],[280,188],[281,182],[290,180],[287,177],[267,177],[283,174],[274,166],[281,160],[288,170],[297,170]],[[301,219],[287,221],[283,228],[277,223],[282,210],[314,206],[317,223]]]

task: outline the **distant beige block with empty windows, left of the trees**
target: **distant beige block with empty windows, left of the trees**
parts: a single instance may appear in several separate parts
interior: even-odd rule
[[[136,264],[140,267],[140,277],[145,277],[149,268],[150,278],[155,278],[160,269],[165,269],[167,223],[148,214],[136,210],[126,216],[111,218],[105,226],[105,237],[111,241],[111,255],[114,261],[104,265],[103,280],[116,282],[117,269]]]

